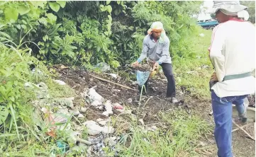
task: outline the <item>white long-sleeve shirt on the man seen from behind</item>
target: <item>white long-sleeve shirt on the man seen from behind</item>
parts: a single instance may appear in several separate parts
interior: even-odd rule
[[[224,76],[255,69],[255,26],[252,23],[231,19],[217,25],[209,52],[218,78],[211,89],[218,97],[255,93],[254,76],[223,81]]]

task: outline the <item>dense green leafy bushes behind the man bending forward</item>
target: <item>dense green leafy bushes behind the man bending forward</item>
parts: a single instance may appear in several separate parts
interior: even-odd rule
[[[1,1],[1,35],[48,64],[113,68],[132,62],[152,21],[162,21],[172,57],[192,56],[187,38],[201,1]],[[155,9],[157,8],[157,9]]]

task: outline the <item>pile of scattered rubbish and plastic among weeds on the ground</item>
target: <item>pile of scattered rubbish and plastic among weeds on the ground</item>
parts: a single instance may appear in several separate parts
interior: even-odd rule
[[[63,81],[55,81],[65,85]],[[79,151],[92,156],[92,152],[104,156],[106,146],[115,150],[121,136],[114,136],[116,131],[111,122],[113,114],[132,114],[119,103],[112,103],[106,100],[99,93],[96,93],[96,86],[85,88],[81,96],[84,104],[74,105],[76,98],[51,98],[48,93],[48,86],[40,82],[37,85],[32,83],[24,84],[26,90],[33,90],[37,100],[34,100],[33,122],[38,140],[52,138],[62,154]],[[102,111],[104,118],[97,120],[86,120],[88,107],[94,107]],[[65,138],[63,137],[65,134]],[[41,137],[39,137],[41,136]],[[42,138],[43,137],[43,138]],[[55,154],[56,151],[52,151]]]

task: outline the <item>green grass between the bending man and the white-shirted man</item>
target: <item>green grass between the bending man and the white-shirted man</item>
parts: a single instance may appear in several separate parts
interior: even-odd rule
[[[199,36],[204,33],[204,37]],[[208,57],[208,47],[211,45],[211,30],[200,29],[197,36],[192,36],[191,50],[196,57],[176,59],[173,62],[174,74],[176,76],[177,85],[185,86],[191,95],[198,98],[208,99],[208,81],[213,73],[211,61]],[[202,68],[208,66],[208,68]],[[189,74],[189,71],[191,74]]]

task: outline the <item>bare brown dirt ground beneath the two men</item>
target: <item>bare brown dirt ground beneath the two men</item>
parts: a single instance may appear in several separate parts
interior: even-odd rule
[[[191,98],[189,94],[184,90],[177,90],[177,98],[182,100],[179,105],[172,105],[169,101],[165,100],[166,81],[162,79],[150,80],[148,93],[143,95],[140,102],[140,107],[143,106],[143,110],[138,110],[139,95],[135,91],[130,91],[119,86],[115,86],[111,83],[99,81],[93,79],[87,75],[87,72],[83,70],[72,70],[72,69],[57,69],[60,73],[60,79],[65,81],[69,86],[76,90],[77,94],[81,93],[84,88],[91,88],[97,86],[96,91],[104,98],[111,100],[113,103],[120,103],[130,107],[137,117],[143,118],[145,124],[157,124],[159,119],[157,113],[160,111],[172,110],[174,107],[182,107],[187,110],[188,114],[196,114],[208,121],[209,124],[214,126],[213,117],[209,116],[211,112],[211,101],[210,100],[199,100]],[[116,83],[129,86],[130,88],[136,88],[131,81],[126,78],[113,79],[111,76],[106,74],[94,74],[100,76],[103,79],[108,79]],[[146,103],[147,102],[147,103]],[[254,102],[255,103],[255,102]],[[89,114],[87,115],[88,120],[96,120],[103,118],[101,111],[89,107]],[[235,127],[233,127],[235,128]],[[253,125],[245,127],[249,134],[253,135]],[[213,138],[213,134],[203,137],[201,139],[205,144],[205,154],[201,156],[216,156],[216,144]],[[238,130],[233,133],[233,153],[234,156],[245,157],[255,156],[255,141],[245,137],[245,134]]]

